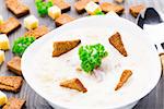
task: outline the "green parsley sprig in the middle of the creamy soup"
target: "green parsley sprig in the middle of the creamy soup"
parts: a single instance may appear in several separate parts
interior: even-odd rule
[[[101,66],[102,59],[108,55],[105,47],[101,44],[86,45],[79,48],[79,57],[81,60],[81,68],[89,74],[93,70]]]

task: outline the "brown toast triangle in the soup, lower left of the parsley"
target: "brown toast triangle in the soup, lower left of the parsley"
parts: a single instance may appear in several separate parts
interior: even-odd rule
[[[79,92],[86,93],[87,89],[83,86],[79,78],[67,80],[60,83],[60,86],[77,89]]]

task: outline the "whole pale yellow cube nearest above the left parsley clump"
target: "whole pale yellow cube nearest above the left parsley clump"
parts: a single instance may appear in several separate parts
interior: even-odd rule
[[[30,15],[24,19],[24,26],[27,29],[34,29],[38,27],[38,20],[34,15]]]

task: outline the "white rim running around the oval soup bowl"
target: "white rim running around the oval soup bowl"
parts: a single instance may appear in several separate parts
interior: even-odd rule
[[[60,26],[60,27],[58,27],[58,28],[56,28],[56,29],[54,29],[54,31],[51,31],[51,32],[49,32],[48,34],[46,34],[46,35],[44,35],[43,37],[40,37],[39,39],[37,39],[37,40],[35,40],[26,50],[25,50],[25,52],[24,52],[24,55],[22,56],[22,60],[21,60],[21,63],[22,63],[22,73],[23,73],[23,76],[24,76],[24,78],[25,78],[25,81],[27,82],[27,84],[36,92],[36,94],[38,94],[39,96],[42,96],[43,98],[45,98],[48,102],[51,102],[51,104],[54,104],[55,106],[58,106],[58,107],[61,107],[61,108],[66,108],[66,109],[74,109],[73,108],[73,106],[72,107],[69,107],[69,106],[67,106],[67,105],[62,105],[61,102],[58,102],[58,101],[52,101],[52,99],[50,99],[50,98],[48,98],[47,96],[45,96],[45,94],[43,94],[39,89],[37,89],[35,86],[34,86],[34,84],[26,77],[26,73],[24,73],[24,70],[25,70],[25,65],[24,65],[24,62],[25,62],[25,57],[27,56],[27,52],[30,52],[31,51],[31,48],[33,47],[33,45],[36,45],[37,43],[39,43],[39,41],[42,41],[42,40],[44,40],[46,37],[48,38],[48,36],[50,36],[50,34],[52,34],[52,33],[55,33],[55,32],[57,32],[57,31],[62,31],[62,29],[65,29],[66,27],[69,27],[70,25],[75,25],[77,23],[79,23],[79,22],[83,22],[83,21],[85,21],[85,20],[94,20],[94,19],[116,19],[116,20],[122,20],[122,22],[128,22],[128,23],[130,23],[130,24],[132,24],[132,25],[136,25],[134,23],[132,23],[132,22],[130,22],[130,21],[128,21],[128,20],[126,20],[126,19],[122,19],[122,17],[118,17],[118,16],[114,16],[114,15],[93,15],[93,16],[85,16],[85,17],[81,17],[81,19],[78,19],[78,20],[74,20],[74,21],[72,21],[72,22],[70,22],[70,23],[68,23],[68,24],[65,24],[63,26]],[[138,29],[140,29],[140,31],[142,31],[139,26],[137,26],[136,25],[136,27],[138,28]],[[143,31],[142,31],[143,32]],[[144,33],[144,32],[143,32]],[[144,33],[145,34],[145,33]],[[148,44],[150,45],[150,46],[153,46],[151,43],[150,43],[150,40],[149,40],[149,38],[148,38],[148,35],[145,35],[145,37],[144,37],[147,40],[148,40]],[[153,48],[153,47],[152,47]],[[154,81],[153,80],[153,83],[154,84],[152,84],[149,88],[147,88],[147,90],[144,90],[144,93],[142,94],[142,95],[140,95],[140,96],[138,96],[138,97],[136,97],[136,98],[133,98],[133,99],[130,99],[130,100],[126,100],[126,101],[124,101],[124,104],[121,102],[121,104],[119,104],[119,105],[117,105],[117,106],[113,106],[113,107],[106,107],[105,109],[108,109],[108,108],[120,108],[120,107],[125,107],[125,106],[128,106],[128,105],[130,105],[130,104],[132,104],[132,102],[136,102],[136,101],[138,101],[138,100],[140,100],[141,98],[143,98],[144,96],[147,96],[155,86],[156,86],[156,84],[159,83],[159,81],[160,81],[160,77],[161,77],[161,71],[162,71],[162,66],[161,66],[161,61],[160,61],[160,57],[159,57],[159,53],[157,53],[157,51],[156,51],[156,49],[155,49],[155,47],[153,48],[153,50],[154,50],[154,53],[156,53],[156,62],[157,62],[157,68],[156,68],[156,72],[159,72],[157,74],[156,74],[156,80]],[[155,58],[155,57],[154,57]],[[75,107],[77,108],[77,107]]]

